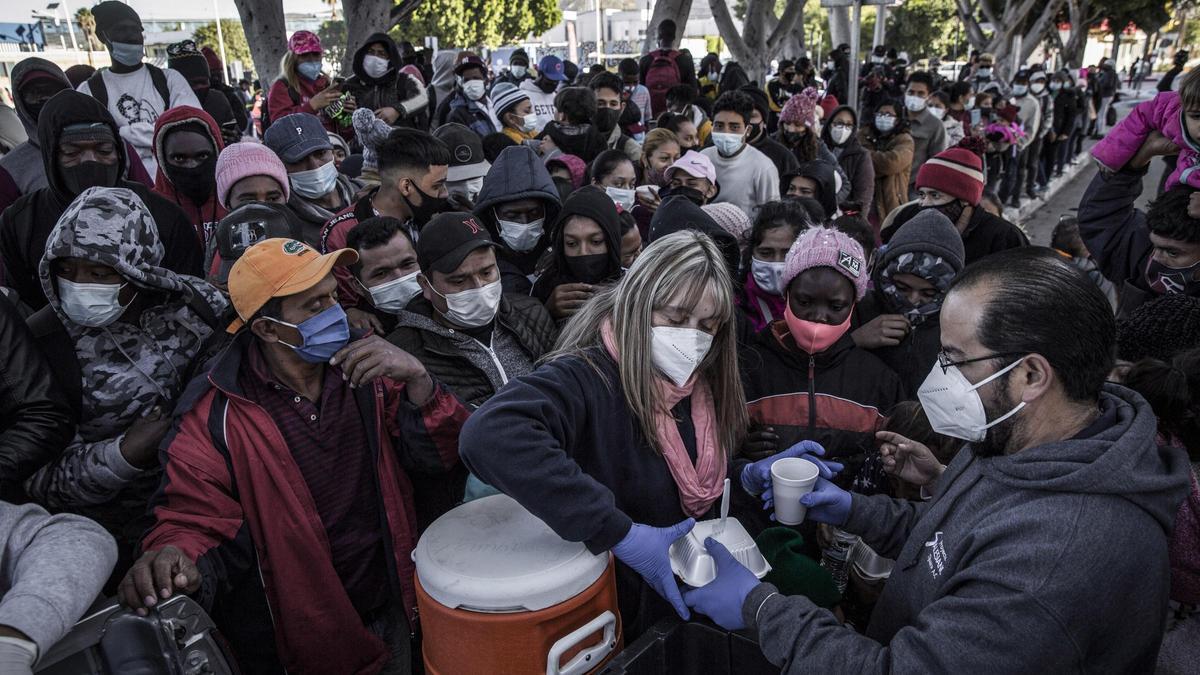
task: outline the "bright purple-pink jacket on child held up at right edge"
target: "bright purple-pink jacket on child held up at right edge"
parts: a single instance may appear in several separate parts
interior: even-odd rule
[[[1138,103],[1121,124],[1092,148],[1092,156],[1104,168],[1120,171],[1156,130],[1180,147],[1180,159],[1166,179],[1166,189],[1181,183],[1200,187],[1200,172],[1196,172],[1200,144],[1188,138],[1184,131],[1183,104],[1178,91],[1163,91],[1150,101]]]

